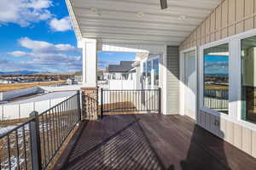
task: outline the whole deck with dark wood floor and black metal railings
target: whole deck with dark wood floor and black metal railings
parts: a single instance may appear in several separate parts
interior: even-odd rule
[[[256,167],[253,156],[188,116],[160,114],[160,89],[101,90],[99,100],[90,93],[82,111],[78,93],[0,135],[0,169]]]

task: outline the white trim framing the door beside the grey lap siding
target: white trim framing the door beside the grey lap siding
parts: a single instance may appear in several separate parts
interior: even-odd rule
[[[195,71],[196,71],[196,75],[197,74],[197,48],[196,47],[192,47],[192,48],[186,48],[182,51],[180,51],[179,53],[179,114],[180,115],[185,115],[185,85],[184,85],[184,77],[185,77],[185,63],[184,63],[184,57],[185,54],[188,52],[192,52],[195,51]],[[198,78],[196,78],[196,87],[197,87],[197,81]],[[196,89],[196,94],[198,93],[198,89]],[[195,111],[197,111],[197,97],[195,99]]]

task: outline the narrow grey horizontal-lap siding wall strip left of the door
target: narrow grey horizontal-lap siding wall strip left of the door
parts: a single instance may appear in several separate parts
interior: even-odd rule
[[[179,62],[178,47],[167,46],[166,55],[166,94],[167,94],[167,113],[179,113]]]

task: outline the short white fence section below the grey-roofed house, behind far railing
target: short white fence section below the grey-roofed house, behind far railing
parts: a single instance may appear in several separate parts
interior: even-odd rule
[[[136,89],[136,81],[134,80],[109,80],[109,90],[133,90]]]

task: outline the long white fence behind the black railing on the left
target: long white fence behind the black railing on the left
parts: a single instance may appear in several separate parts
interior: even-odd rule
[[[0,105],[0,121],[26,118],[32,111],[39,113],[47,111],[74,94],[76,94],[75,91],[51,93],[25,101]]]

